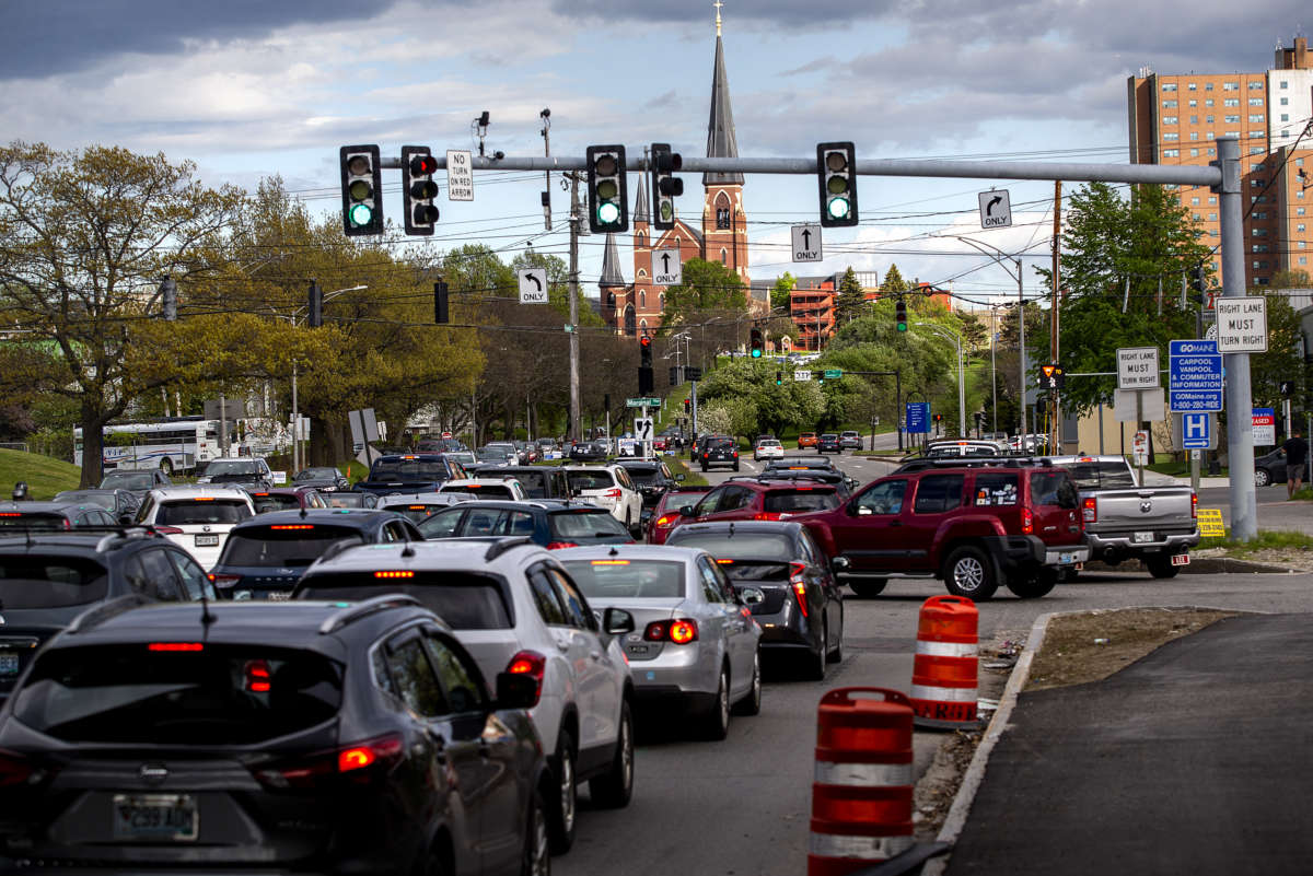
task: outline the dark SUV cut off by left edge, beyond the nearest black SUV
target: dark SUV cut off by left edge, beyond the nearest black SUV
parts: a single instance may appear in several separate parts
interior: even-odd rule
[[[118,597],[176,602],[202,593],[215,595],[205,569],[146,528],[0,536],[0,696],[13,690],[41,643],[88,607]]]

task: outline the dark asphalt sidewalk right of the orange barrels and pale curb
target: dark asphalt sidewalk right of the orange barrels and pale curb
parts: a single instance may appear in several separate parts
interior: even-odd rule
[[[1313,615],[1239,616],[1022,694],[947,872],[1310,872],[1310,665]]]

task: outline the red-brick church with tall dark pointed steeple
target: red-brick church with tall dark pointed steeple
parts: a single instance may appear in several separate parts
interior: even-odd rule
[[[734,114],[730,111],[730,87],[725,75],[725,46],[721,42],[720,4],[716,12],[716,64],[712,72],[712,113],[706,126],[706,157],[738,157],[734,139]],[[688,222],[675,214],[675,227],[660,231],[651,227],[646,174],[638,178],[638,198],[633,211],[633,282],[621,270],[620,247],[614,235],[607,235],[597,287],[601,316],[620,334],[634,336],[655,332],[666,309],[666,287],[653,283],[653,250],[678,249],[680,260],[720,260],[743,281],[750,295],[747,262],[747,214],[743,211],[743,174],[704,173],[702,215]]]

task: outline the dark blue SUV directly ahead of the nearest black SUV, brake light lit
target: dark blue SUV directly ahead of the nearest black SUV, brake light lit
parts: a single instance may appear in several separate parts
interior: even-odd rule
[[[269,511],[232,527],[210,580],[230,599],[286,599],[330,551],[423,540],[412,522],[382,509]]]

